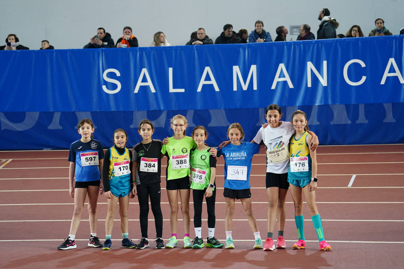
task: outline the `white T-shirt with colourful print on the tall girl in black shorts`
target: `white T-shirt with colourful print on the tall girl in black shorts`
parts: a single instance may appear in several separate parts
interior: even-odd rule
[[[259,143],[263,140],[267,146],[267,152],[274,154],[289,154],[289,140],[295,133],[292,123],[289,121],[279,121],[281,124],[276,128],[267,126],[261,127],[254,138],[254,141]],[[281,163],[271,163],[268,159],[270,154],[267,154],[267,172],[283,174],[287,173],[289,169],[289,158]]]

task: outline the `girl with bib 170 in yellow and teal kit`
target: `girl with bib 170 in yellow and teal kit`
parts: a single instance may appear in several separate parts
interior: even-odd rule
[[[103,250],[111,248],[111,233],[116,205],[119,201],[119,215],[121,219],[122,248],[135,248],[136,244],[128,236],[128,207],[130,186],[130,170],[132,152],[125,148],[128,136],[123,129],[114,131],[114,146],[105,152],[103,165],[104,192],[108,201],[107,217],[105,219],[105,242]]]

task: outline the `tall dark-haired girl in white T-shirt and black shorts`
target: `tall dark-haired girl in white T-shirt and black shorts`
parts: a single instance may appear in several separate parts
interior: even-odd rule
[[[271,104],[265,109],[265,123],[261,127],[251,142],[261,143],[261,140],[267,147],[267,174],[266,188],[268,195],[268,234],[265,240],[264,250],[274,250],[275,244],[273,238],[275,221],[278,219],[278,239],[276,248],[286,248],[283,238],[285,227],[285,200],[288,192],[288,168],[289,168],[289,140],[295,133],[292,123],[280,121],[282,111],[277,104]],[[269,125],[269,128],[267,126]],[[315,150],[318,146],[318,137],[310,131],[313,136],[310,148]]]

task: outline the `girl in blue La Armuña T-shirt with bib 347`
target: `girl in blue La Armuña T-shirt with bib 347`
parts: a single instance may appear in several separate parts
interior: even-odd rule
[[[262,249],[261,236],[259,234],[257,219],[251,207],[250,171],[252,155],[259,152],[259,144],[242,142],[244,131],[240,123],[233,123],[227,129],[227,137],[231,144],[217,151],[217,156],[223,155],[225,159],[225,184],[223,196],[226,198],[226,246],[234,248],[231,229],[233,225],[234,204],[240,199],[244,213],[248,219],[255,236],[254,248]]]

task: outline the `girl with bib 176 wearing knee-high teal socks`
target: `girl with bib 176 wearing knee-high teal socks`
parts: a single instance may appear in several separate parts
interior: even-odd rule
[[[299,240],[293,244],[293,248],[305,248],[303,200],[302,190],[310,211],[311,220],[320,242],[320,250],[331,250],[331,246],[324,239],[324,232],[320,214],[316,206],[317,189],[317,157],[316,150],[309,149],[312,136],[308,133],[307,116],[303,111],[297,110],[292,115],[292,124],[295,135],[290,139],[290,165],[288,170],[288,182],[290,193],[295,204],[295,222]]]

